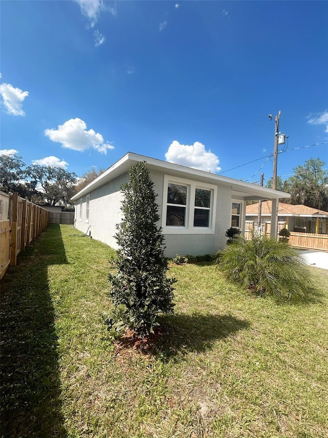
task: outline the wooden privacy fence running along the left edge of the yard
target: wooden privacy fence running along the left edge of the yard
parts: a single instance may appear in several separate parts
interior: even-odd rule
[[[49,224],[47,210],[19,198],[17,193],[11,195],[10,218],[0,221],[0,279],[9,264],[16,264],[20,251],[24,251]]]

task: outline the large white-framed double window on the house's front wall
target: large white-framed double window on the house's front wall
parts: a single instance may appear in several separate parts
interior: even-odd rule
[[[213,234],[216,190],[214,185],[165,175],[163,231],[168,234]]]

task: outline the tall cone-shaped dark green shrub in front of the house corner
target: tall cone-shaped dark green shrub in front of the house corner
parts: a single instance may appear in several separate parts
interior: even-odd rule
[[[129,170],[130,181],[121,186],[123,218],[115,235],[119,246],[110,274],[110,297],[115,310],[108,318],[117,331],[130,328],[147,336],[158,325],[160,313],[173,313],[174,278],[167,277],[164,236],[158,226],[157,195],[146,162]]]

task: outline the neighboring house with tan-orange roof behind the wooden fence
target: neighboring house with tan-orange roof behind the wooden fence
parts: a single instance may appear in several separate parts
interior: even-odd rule
[[[246,220],[257,225],[258,204],[247,205]],[[272,202],[262,202],[261,228],[266,221],[271,221]],[[328,234],[328,212],[306,205],[292,205],[279,202],[278,220],[285,222],[285,227],[291,232]]]

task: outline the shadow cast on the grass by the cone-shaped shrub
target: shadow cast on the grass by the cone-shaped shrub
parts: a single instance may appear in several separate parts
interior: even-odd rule
[[[217,340],[250,327],[247,320],[229,314],[167,315],[159,322],[168,331],[161,345],[157,345],[158,353],[165,359],[176,354],[211,350]]]

